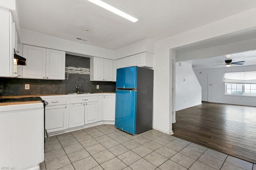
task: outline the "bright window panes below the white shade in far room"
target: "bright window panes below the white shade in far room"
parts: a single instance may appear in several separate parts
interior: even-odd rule
[[[226,94],[256,96],[256,84],[225,83]]]

